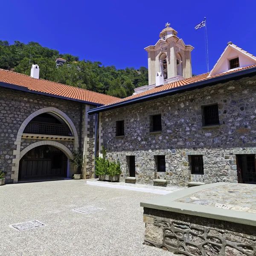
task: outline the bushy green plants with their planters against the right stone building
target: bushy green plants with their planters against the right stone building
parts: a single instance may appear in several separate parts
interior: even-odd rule
[[[111,162],[106,159],[107,150],[102,146],[102,157],[96,159],[95,174],[99,176],[99,180],[117,181],[120,180],[121,168],[120,163]]]

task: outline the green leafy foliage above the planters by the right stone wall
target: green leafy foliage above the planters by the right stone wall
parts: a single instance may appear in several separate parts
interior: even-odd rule
[[[102,146],[102,156],[103,157],[97,157],[96,158],[96,169],[95,174],[96,175],[109,175],[109,176],[115,176],[121,174],[121,168],[120,163],[117,161],[117,163],[111,162],[108,159],[106,159],[107,150]]]

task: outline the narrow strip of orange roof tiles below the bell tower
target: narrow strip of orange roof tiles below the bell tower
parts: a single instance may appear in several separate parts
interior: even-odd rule
[[[204,74],[198,75],[198,76],[192,76],[188,79],[184,79],[184,80],[181,80],[181,81],[176,81],[176,82],[173,82],[173,83],[170,83],[170,84],[164,84],[162,86],[155,87],[151,90],[147,90],[143,93],[138,93],[138,94],[129,96],[129,97],[124,98],[124,99],[119,99],[115,102],[111,102],[111,103],[108,103],[106,105],[112,105],[112,104],[116,104],[118,102],[125,102],[129,99],[134,99],[134,98],[145,96],[145,95],[148,95],[148,94],[151,94],[151,93],[156,93],[156,92],[160,92],[160,91],[163,91],[163,90],[168,90],[168,89],[175,88],[175,87],[180,87],[180,86],[183,86],[183,85],[186,85],[186,84],[192,84],[194,82],[207,80],[207,79],[210,79],[210,78],[213,78],[213,77],[222,76],[222,75],[226,75],[226,74],[229,74],[229,73],[234,73],[234,72],[237,72],[237,71],[248,69],[250,67],[256,67],[256,65],[252,65],[252,66],[248,66],[248,67],[241,67],[241,68],[238,68],[236,70],[227,71],[225,73],[221,73],[221,74],[214,75],[214,76],[209,76],[209,73],[204,73]]]

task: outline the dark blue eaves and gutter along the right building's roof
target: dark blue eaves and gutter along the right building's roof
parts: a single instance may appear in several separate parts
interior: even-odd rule
[[[103,112],[103,111],[107,111],[107,110],[111,110],[113,108],[118,108],[118,107],[123,107],[126,105],[132,105],[132,104],[136,104],[136,103],[140,103],[140,102],[144,102],[144,101],[148,101],[148,100],[152,100],[152,99],[157,99],[163,96],[168,96],[168,95],[172,95],[172,94],[176,94],[176,93],[182,93],[184,91],[189,91],[189,90],[195,90],[195,89],[199,89],[199,88],[203,88],[206,86],[211,86],[211,85],[215,85],[217,83],[220,82],[224,82],[230,79],[234,79],[234,78],[238,78],[239,76],[244,76],[244,75],[248,75],[248,74],[252,74],[252,73],[256,73],[256,67],[251,67],[248,69],[244,69],[244,70],[240,70],[237,72],[233,72],[233,73],[228,73],[228,74],[224,74],[221,76],[215,76],[206,80],[201,80],[201,81],[196,81],[190,84],[186,84],[183,86],[178,86],[178,87],[174,87],[171,89],[167,89],[167,90],[163,90],[163,91],[159,91],[159,92],[155,92],[155,93],[151,93],[151,94],[147,94],[144,96],[140,96],[137,98],[132,98],[132,99],[128,99],[126,101],[122,101],[122,102],[117,102],[111,105],[104,105],[98,108],[93,108],[91,110],[88,110],[87,113],[88,114],[94,114],[94,113],[99,113],[99,112]]]

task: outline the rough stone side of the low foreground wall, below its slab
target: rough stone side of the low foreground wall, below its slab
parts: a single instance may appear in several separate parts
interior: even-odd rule
[[[252,226],[148,208],[143,218],[147,245],[189,256],[256,255]]]

